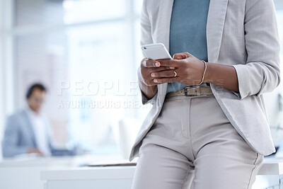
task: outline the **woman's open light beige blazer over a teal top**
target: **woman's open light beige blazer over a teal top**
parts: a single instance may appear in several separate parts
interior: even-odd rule
[[[141,45],[163,42],[169,49],[172,8],[173,0],[144,0]],[[236,93],[211,84],[212,92],[236,131],[262,155],[275,151],[262,93],[273,91],[279,84],[279,48],[272,0],[210,0],[208,62],[235,67],[239,87]],[[158,93],[150,100],[141,93],[142,103],[153,107],[134,142],[130,160],[138,156],[142,139],[161,111],[167,85],[159,84]]]

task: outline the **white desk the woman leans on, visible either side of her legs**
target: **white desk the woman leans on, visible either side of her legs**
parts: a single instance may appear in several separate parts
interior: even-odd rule
[[[71,168],[42,171],[41,178],[46,189],[129,189],[134,170],[135,166]],[[282,178],[283,159],[265,159],[253,189],[277,189]]]

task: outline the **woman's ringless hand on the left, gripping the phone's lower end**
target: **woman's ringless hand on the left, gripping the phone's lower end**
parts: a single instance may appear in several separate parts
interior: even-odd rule
[[[142,59],[141,65],[138,69],[138,78],[142,84],[146,86],[156,86],[158,83],[154,82],[154,78],[151,73],[156,71],[172,70],[174,67],[162,67],[160,62],[151,59]]]

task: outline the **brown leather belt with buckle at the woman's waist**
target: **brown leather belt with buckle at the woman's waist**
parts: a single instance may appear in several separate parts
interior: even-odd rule
[[[210,86],[187,86],[179,91],[172,91],[166,94],[170,96],[213,96],[212,88]]]

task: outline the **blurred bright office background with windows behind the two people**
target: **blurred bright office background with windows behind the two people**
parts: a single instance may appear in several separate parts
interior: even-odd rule
[[[137,69],[142,0],[1,0],[0,141],[31,84],[47,86],[44,112],[56,147],[98,156],[129,151],[149,112]],[[275,0],[283,47],[283,1]],[[283,49],[281,50],[283,61]],[[283,77],[282,77],[283,78]],[[265,95],[272,136],[283,140],[282,84]],[[124,153],[125,155],[125,153]]]

